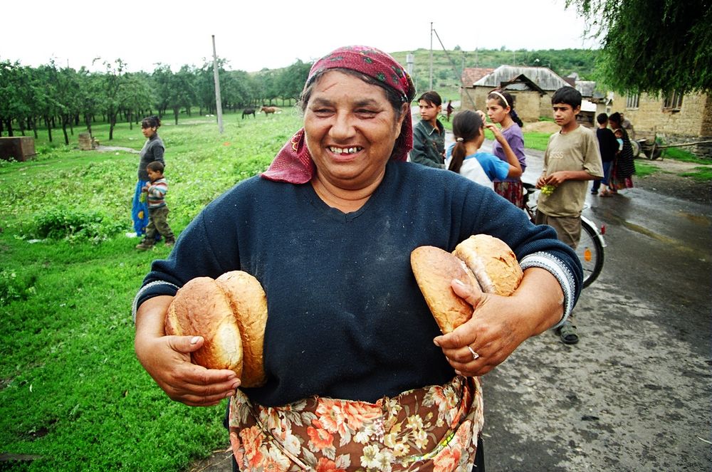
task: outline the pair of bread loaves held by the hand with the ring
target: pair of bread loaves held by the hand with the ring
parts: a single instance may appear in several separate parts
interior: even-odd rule
[[[420,291],[440,330],[451,332],[472,318],[473,308],[451,288],[454,278],[483,292],[508,296],[519,286],[523,272],[507,243],[486,234],[470,236],[452,253],[420,246],[410,255]]]

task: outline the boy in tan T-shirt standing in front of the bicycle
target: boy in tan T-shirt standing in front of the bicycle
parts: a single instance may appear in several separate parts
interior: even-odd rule
[[[603,177],[603,164],[596,135],[576,121],[581,111],[581,93],[573,87],[562,87],[554,93],[551,105],[561,130],[551,135],[544,152],[542,174],[536,182],[536,187],[543,190],[535,223],[553,226],[559,240],[575,249],[581,237],[587,181]],[[572,321],[570,317],[557,330],[565,344],[579,340]]]

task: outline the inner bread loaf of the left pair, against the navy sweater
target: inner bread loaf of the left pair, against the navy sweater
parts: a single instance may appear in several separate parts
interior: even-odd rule
[[[267,296],[259,281],[243,271],[226,272],[215,279],[230,300],[242,337],[243,387],[266,382],[263,345],[267,325]]]

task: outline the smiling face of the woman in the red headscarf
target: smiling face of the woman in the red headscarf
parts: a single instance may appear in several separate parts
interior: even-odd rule
[[[315,83],[305,107],[306,145],[317,178],[340,189],[362,189],[382,179],[400,134],[396,112],[377,85],[337,70]]]

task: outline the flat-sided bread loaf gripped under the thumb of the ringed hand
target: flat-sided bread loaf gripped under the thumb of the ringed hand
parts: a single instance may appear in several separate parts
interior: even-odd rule
[[[411,253],[410,264],[425,302],[443,333],[451,332],[472,318],[472,306],[455,295],[451,287],[454,278],[478,286],[463,261],[441,248],[420,246]]]

